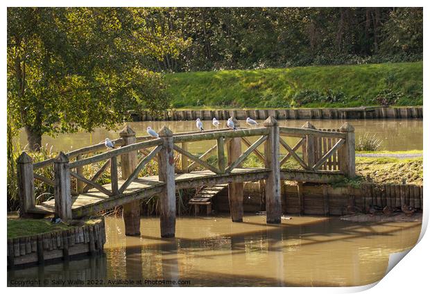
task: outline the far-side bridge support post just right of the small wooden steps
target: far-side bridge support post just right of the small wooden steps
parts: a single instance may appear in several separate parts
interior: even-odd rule
[[[232,117],[234,126],[239,129],[239,121]],[[233,131],[234,132],[234,131]],[[232,138],[227,143],[227,164],[230,165],[242,154],[241,138]],[[228,202],[230,205],[230,215],[232,221],[241,222],[243,220],[243,182],[232,182],[228,184]]]

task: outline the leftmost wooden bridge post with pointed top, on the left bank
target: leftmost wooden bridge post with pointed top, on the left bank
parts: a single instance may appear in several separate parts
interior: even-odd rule
[[[17,179],[19,195],[19,216],[25,217],[28,209],[35,207],[35,184],[33,178],[33,158],[26,152],[17,159]]]

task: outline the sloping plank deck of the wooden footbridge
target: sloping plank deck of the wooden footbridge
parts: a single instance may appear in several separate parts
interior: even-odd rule
[[[264,168],[234,168],[228,175],[217,175],[212,171],[193,171],[191,173],[175,174],[177,189],[201,187],[207,184],[220,184],[234,181],[251,181],[266,178],[268,170]],[[119,180],[118,184],[125,182]],[[124,193],[116,196],[108,196],[97,189],[90,189],[87,193],[71,196],[71,211],[74,218],[96,213],[104,209],[123,205],[132,200],[147,198],[160,193],[164,182],[158,181],[157,175],[137,178]],[[111,184],[105,184],[105,189],[110,189]],[[39,214],[52,214],[55,211],[55,200],[42,202],[36,205],[31,212]]]

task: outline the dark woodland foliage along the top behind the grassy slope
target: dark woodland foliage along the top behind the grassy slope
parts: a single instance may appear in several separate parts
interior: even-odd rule
[[[157,8],[148,21],[187,40],[153,60],[164,71],[422,60],[422,8]]]

